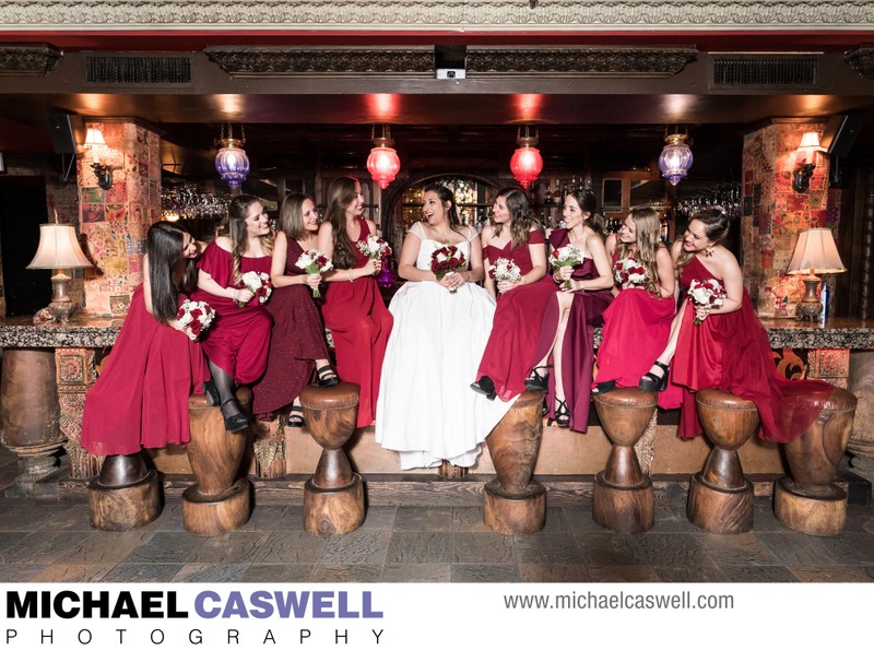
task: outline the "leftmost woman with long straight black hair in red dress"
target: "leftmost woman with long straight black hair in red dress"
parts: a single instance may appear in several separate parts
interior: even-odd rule
[[[197,285],[199,244],[181,226],[149,228],[143,283],[133,291],[113,353],[85,395],[82,447],[95,456],[190,439],[188,397],[210,377],[200,343],[179,331],[179,304]]]

